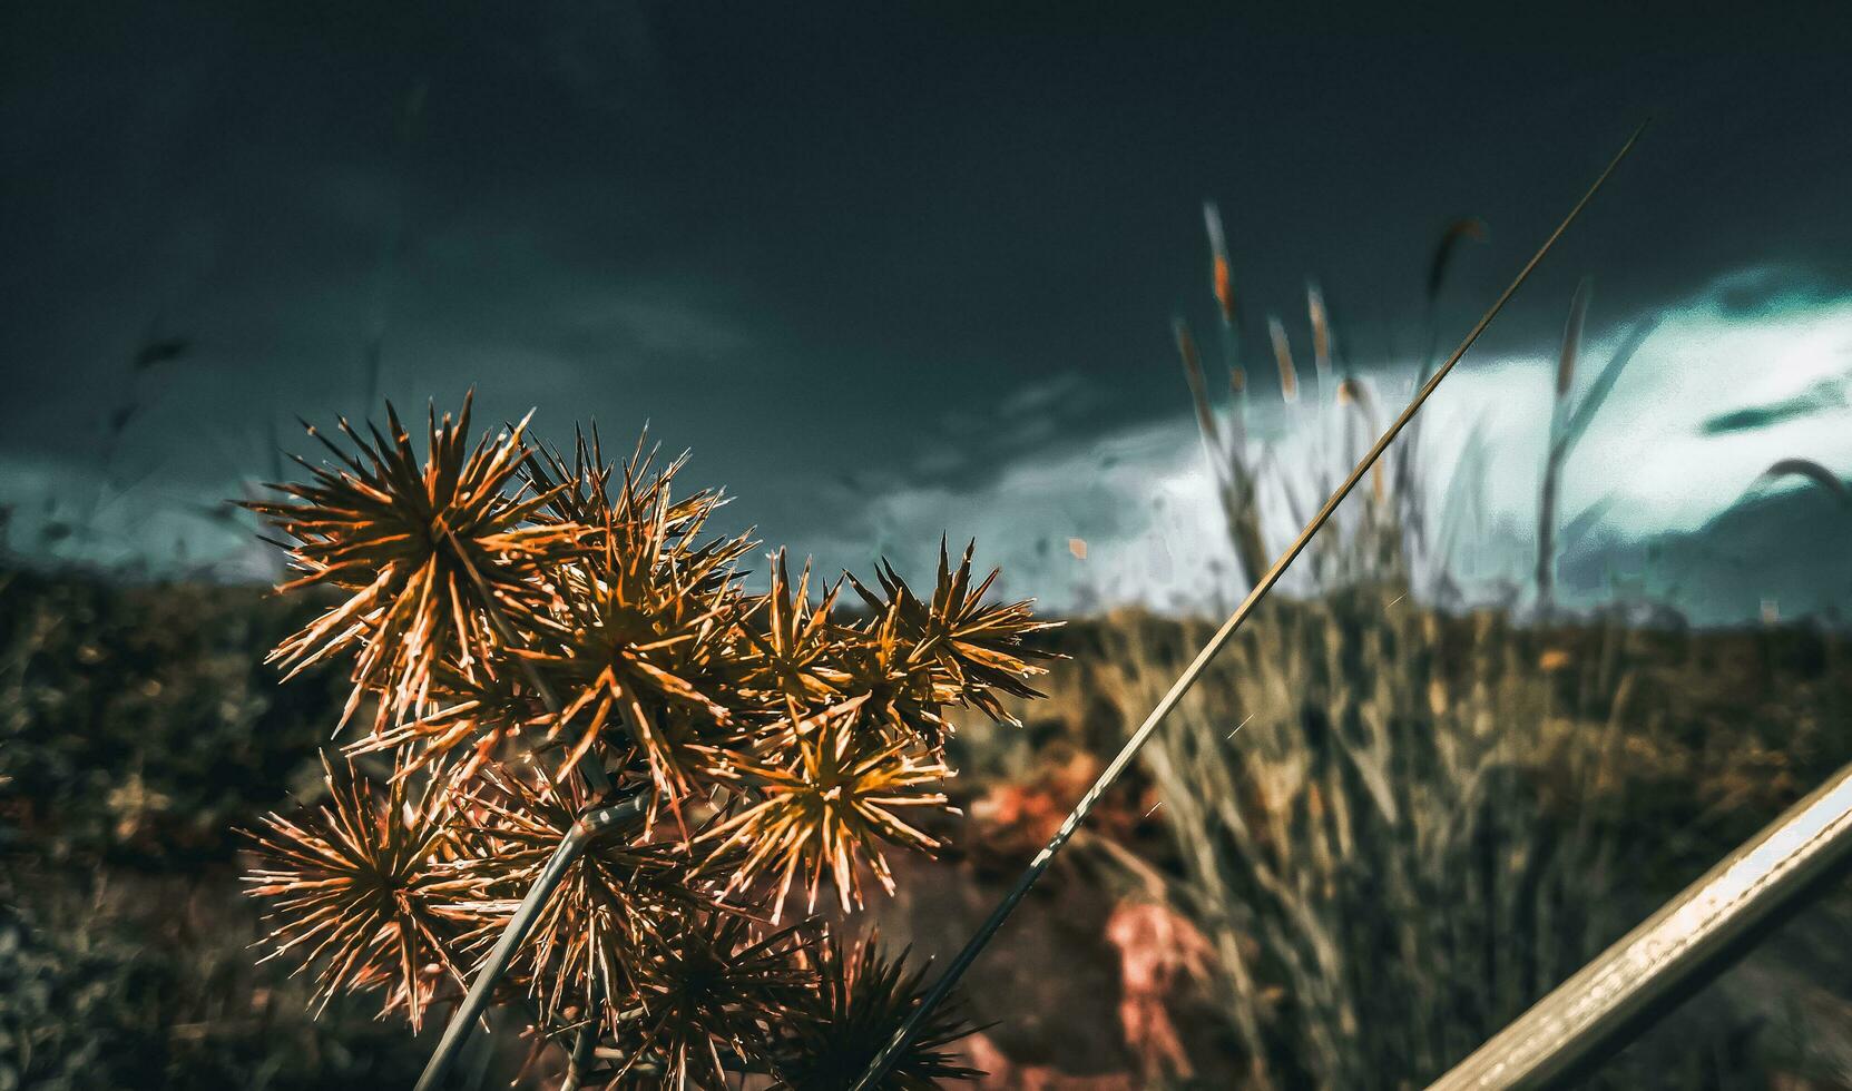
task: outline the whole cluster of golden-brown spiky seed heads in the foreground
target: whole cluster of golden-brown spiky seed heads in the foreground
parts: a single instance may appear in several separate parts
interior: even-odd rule
[[[883,565],[848,578],[846,615],[782,552],[754,591],[756,543],[707,530],[722,496],[672,496],[683,459],[641,443],[609,463],[596,433],[565,454],[522,424],[470,446],[467,400],[432,413],[422,456],[391,408],[383,435],[309,432],[333,461],[252,508],[294,569],[282,589],[333,595],[272,658],[348,656],[343,722],[370,728],[326,806],[254,834],[272,958],[415,1028],[504,971],[487,1002],[565,1045],[572,1085],[822,1087],[845,1034],[891,1032],[920,976],[845,956],[807,911],[937,846],[919,817],[948,809],[945,713],[1037,696],[1024,637],[1048,622],[985,602],[995,572],[943,543],[924,598]],[[628,824],[594,821],[639,795]],[[967,1076],[943,1054],[963,1032],[935,1022],[889,1084]]]

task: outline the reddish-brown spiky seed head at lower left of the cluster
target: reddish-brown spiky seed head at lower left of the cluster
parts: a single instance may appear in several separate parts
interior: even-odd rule
[[[385,1009],[417,1030],[437,985],[463,982],[470,928],[452,902],[469,880],[444,863],[443,787],[394,778],[383,795],[352,767],[322,761],[330,804],[302,822],[269,815],[252,832],[259,865],[244,882],[270,902],[267,958],[317,965],[315,995],[383,987]]]

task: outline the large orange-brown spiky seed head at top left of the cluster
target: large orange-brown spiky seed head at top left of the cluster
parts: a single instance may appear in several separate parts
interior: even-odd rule
[[[376,726],[406,719],[430,696],[435,663],[493,656],[507,637],[498,628],[530,624],[544,606],[537,572],[580,548],[574,526],[532,524],[548,496],[509,491],[528,456],[522,428],[470,448],[469,411],[465,400],[456,420],[432,413],[422,461],[391,408],[391,437],[341,422],[352,450],[311,430],[339,465],[304,461],[307,483],[272,485],[287,500],[250,504],[289,539],[302,572],[283,591],[346,593],[270,656],[294,674],[357,645],[343,722],[369,691],[380,696]]]

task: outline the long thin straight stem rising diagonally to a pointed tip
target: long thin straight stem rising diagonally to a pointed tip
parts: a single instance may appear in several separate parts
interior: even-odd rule
[[[1291,567],[1291,563],[1298,559],[1298,556],[1311,543],[1313,535],[1317,535],[1319,530],[1326,524],[1326,520],[1332,519],[1332,513],[1337,511],[1337,506],[1343,504],[1345,496],[1348,496],[1350,491],[1356,489],[1358,482],[1361,482],[1363,476],[1369,474],[1370,467],[1376,465],[1376,461],[1389,448],[1389,445],[1395,443],[1395,437],[1402,432],[1402,428],[1406,428],[1408,422],[1415,419],[1415,413],[1420,411],[1428,396],[1433,395],[1435,387],[1441,385],[1441,380],[1445,380],[1454,370],[1454,365],[1459,363],[1459,357],[1465,356],[1469,348],[1472,348],[1472,345],[1480,339],[1480,335],[1485,332],[1491,320],[1498,315],[1498,311],[1502,311],[1504,306],[1511,300],[1511,296],[1517,295],[1517,289],[1522,287],[1526,280],[1530,280],[1532,270],[1537,269],[1545,254],[1548,254],[1550,248],[1556,245],[1556,241],[1563,237],[1563,232],[1569,230],[1569,224],[1572,224],[1576,217],[1582,215],[1582,209],[1587,207],[1587,204],[1602,189],[1602,185],[1615,172],[1620,161],[1626,159],[1628,152],[1633,150],[1633,144],[1639,141],[1645,128],[1646,126],[1643,124],[1641,128],[1633,130],[1633,135],[1628,137],[1626,144],[1620,146],[1620,152],[1617,152],[1615,157],[1609,159],[1608,167],[1600,172],[1595,183],[1587,189],[1587,193],[1582,194],[1582,200],[1578,200],[1576,206],[1569,209],[1569,215],[1563,217],[1563,222],[1556,226],[1550,237],[1545,239],[1543,246],[1539,246],[1537,252],[1532,256],[1532,259],[1524,265],[1524,269],[1519,270],[1511,285],[1504,289],[1504,295],[1500,295],[1498,300],[1493,302],[1493,306],[1480,317],[1478,324],[1472,326],[1472,332],[1467,333],[1467,339],[1459,343],[1459,348],[1456,348],[1454,354],[1446,359],[1446,363],[1443,363],[1433,372],[1433,376],[1430,376],[1428,382],[1415,391],[1413,400],[1409,400],[1408,408],[1402,409],[1400,417],[1395,419],[1389,430],[1376,439],[1376,445],[1370,446],[1370,450],[1363,456],[1363,461],[1359,461],[1356,469],[1350,470],[1350,476],[1346,476],[1345,482],[1337,487],[1337,491],[1332,493],[1332,496],[1324,502],[1324,508],[1320,508],[1319,513],[1311,517],[1311,522],[1306,524],[1306,530],[1300,532],[1300,535],[1293,541],[1293,545],[1287,546],[1287,550],[1280,556],[1280,559],[1276,559],[1274,565],[1267,571],[1267,574],[1261,576],[1261,580],[1254,585],[1254,589],[1248,591],[1248,596],[1241,602],[1241,606],[1235,608],[1235,613],[1230,615],[1230,619],[1222,622],[1222,628],[1219,628],[1215,635],[1209,637],[1209,643],[1204,645],[1200,652],[1196,652],[1196,658],[1191,659],[1189,667],[1183,669],[1183,674],[1178,676],[1178,680],[1163,695],[1163,698],[1158,702],[1158,708],[1154,708],[1150,715],[1145,717],[1145,722],[1139,724],[1137,732],[1132,734],[1132,737],[1119,750],[1119,754],[1113,756],[1113,761],[1106,767],[1106,771],[1100,772],[1100,778],[1095,780],[1093,787],[1087,789],[1087,795],[1083,795],[1080,802],[1074,806],[1074,809],[1067,815],[1067,821],[1061,822],[1061,828],[1056,830],[1048,845],[1035,854],[1035,859],[1030,861],[1028,869],[1009,889],[1009,893],[1006,893],[1004,898],[996,904],[996,908],[991,909],[991,915],[983,921],[983,924],[978,926],[978,932],[970,937],[965,948],[952,958],[950,965],[946,965],[945,969],[945,974],[941,974],[939,980],[933,982],[933,987],[920,998],[920,1004],[907,1015],[906,1022],[900,1024],[900,1030],[896,1030],[893,1039],[889,1039],[889,1043],[882,1048],[882,1052],[874,1056],[867,1071],[863,1071],[861,1078],[856,1082],[854,1091],[874,1091],[874,1087],[882,1084],[882,1078],[893,1067],[895,1060],[900,1056],[900,1050],[904,1050],[907,1043],[913,1041],[913,1035],[919,1034],[920,1026],[924,1026],[932,1011],[941,1002],[945,1002],[946,995],[950,995],[957,980],[965,976],[967,969],[970,969],[970,963],[976,961],[978,954],[982,954],[983,948],[991,943],[991,937],[996,935],[996,932],[1004,926],[1004,921],[1009,919],[1015,908],[1030,893],[1030,887],[1033,887],[1035,882],[1041,880],[1043,872],[1048,871],[1048,865],[1054,861],[1054,856],[1061,850],[1063,845],[1067,845],[1069,837],[1074,835],[1074,830],[1080,828],[1080,824],[1087,819],[1087,815],[1093,813],[1093,808],[1100,802],[1100,796],[1104,796],[1106,791],[1113,785],[1113,782],[1117,782],[1119,776],[1126,771],[1126,767],[1132,765],[1132,759],[1137,756],[1139,748],[1145,746],[1145,741],[1150,739],[1152,734],[1158,730],[1158,726],[1165,721],[1165,717],[1170,715],[1170,709],[1174,709],[1178,702],[1183,700],[1183,695],[1189,693],[1189,689],[1196,683],[1196,680],[1202,676],[1209,661],[1215,659],[1215,654],[1222,648],[1222,645],[1228,643],[1230,637],[1235,635],[1235,632],[1248,619],[1248,615],[1254,613],[1254,608],[1259,606],[1259,602],[1267,596],[1267,593],[1272,591],[1274,583],[1280,582],[1280,576],[1285,574],[1287,567]]]

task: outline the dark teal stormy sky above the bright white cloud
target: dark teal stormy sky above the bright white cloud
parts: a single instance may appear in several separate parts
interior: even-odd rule
[[[1646,115],[1489,350],[1585,272],[1598,328],[1852,285],[1845,4],[1209,7],[6,6],[0,472],[222,491],[376,345],[413,406],[648,419],[800,535],[1183,413],[1204,198],[1252,315],[1317,274],[1369,361],[1448,220],[1458,335]]]

